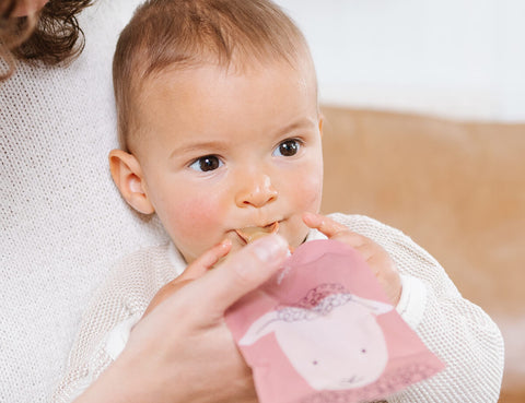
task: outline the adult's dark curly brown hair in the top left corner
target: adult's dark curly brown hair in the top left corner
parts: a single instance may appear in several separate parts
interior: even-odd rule
[[[69,62],[84,48],[77,15],[93,0],[49,0],[36,15],[13,17],[20,0],[0,0],[0,58],[8,66],[0,81],[14,71],[15,59],[47,66]]]

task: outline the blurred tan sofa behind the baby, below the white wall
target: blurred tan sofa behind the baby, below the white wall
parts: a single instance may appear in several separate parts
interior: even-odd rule
[[[323,212],[402,229],[500,325],[500,402],[525,402],[525,123],[323,108]]]

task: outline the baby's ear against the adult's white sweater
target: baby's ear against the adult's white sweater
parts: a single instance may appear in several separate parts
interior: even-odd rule
[[[112,150],[109,169],[115,185],[129,205],[143,214],[154,213],[155,209],[145,192],[142,168],[133,155],[122,150]]]

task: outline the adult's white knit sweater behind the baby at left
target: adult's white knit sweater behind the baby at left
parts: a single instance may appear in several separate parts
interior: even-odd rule
[[[47,401],[108,268],[166,240],[126,205],[107,164],[113,52],[138,2],[95,1],[79,19],[79,59],[20,64],[0,83],[0,402]]]

